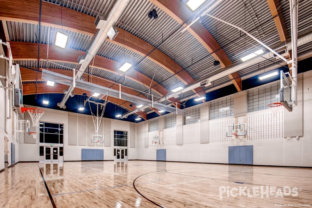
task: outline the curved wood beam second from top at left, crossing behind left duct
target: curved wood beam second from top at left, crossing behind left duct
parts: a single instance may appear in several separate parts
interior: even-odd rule
[[[36,43],[11,41],[10,46],[14,60],[37,60],[38,58],[38,44]],[[47,51],[47,45],[40,44],[40,60],[46,59],[45,51]],[[49,60],[54,62],[78,64],[78,56],[83,56],[84,54],[84,51],[79,51],[71,48],[61,49],[54,45],[49,46]],[[94,60],[95,68],[113,72],[115,74],[120,74],[120,71],[118,69],[122,64],[123,63],[119,63],[117,61],[98,55],[95,56]],[[138,82],[146,86],[147,88],[149,87],[149,85],[151,85],[151,89],[161,96],[165,96],[168,94],[168,90],[166,88],[164,88],[162,85],[159,85],[155,80],[152,80],[151,78],[137,70],[129,70],[127,72],[127,78],[134,80],[135,82]],[[171,98],[169,100],[172,102],[180,103],[177,99],[174,98]],[[180,106],[178,105],[178,107]]]

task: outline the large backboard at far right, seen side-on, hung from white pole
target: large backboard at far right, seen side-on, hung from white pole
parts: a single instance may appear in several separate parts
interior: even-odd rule
[[[290,74],[280,71],[280,103],[288,110],[292,111],[291,97],[291,78]]]

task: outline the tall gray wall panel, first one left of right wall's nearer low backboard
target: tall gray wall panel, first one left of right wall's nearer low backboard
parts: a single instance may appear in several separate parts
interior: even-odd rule
[[[209,143],[209,102],[200,104],[200,143]]]

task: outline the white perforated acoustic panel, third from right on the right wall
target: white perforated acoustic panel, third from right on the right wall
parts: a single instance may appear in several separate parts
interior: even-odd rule
[[[183,144],[200,143],[200,123],[183,126]]]

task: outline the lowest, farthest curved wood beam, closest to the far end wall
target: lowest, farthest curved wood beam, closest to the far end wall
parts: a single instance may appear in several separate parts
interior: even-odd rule
[[[37,84],[37,92],[36,92],[35,84],[23,84],[23,95],[30,95],[30,94],[36,94],[36,93],[37,94],[45,94],[45,93],[63,94],[63,89],[65,89],[66,87],[67,87],[66,85],[61,85],[61,84],[55,84],[54,87],[49,87],[46,84]],[[78,88],[75,88],[73,93],[79,94],[79,95],[82,95],[83,93],[86,93],[87,95],[92,94],[89,91],[85,91],[85,90],[78,89]],[[130,102],[122,100],[122,99],[109,97],[108,100],[115,105],[120,105],[123,108],[128,109],[129,111],[136,109],[135,106],[130,107],[130,104],[131,104]],[[136,114],[142,117],[143,119],[147,120],[147,114],[145,112],[138,112]]]

